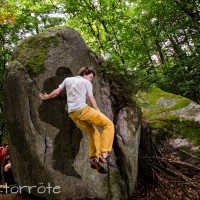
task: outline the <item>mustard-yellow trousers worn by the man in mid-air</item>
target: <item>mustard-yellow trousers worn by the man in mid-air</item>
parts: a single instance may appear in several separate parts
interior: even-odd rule
[[[112,150],[114,125],[103,113],[92,107],[86,106],[82,110],[70,113],[69,116],[83,132],[90,135],[90,158],[99,158],[100,152],[109,152]],[[95,126],[102,129],[101,135]]]

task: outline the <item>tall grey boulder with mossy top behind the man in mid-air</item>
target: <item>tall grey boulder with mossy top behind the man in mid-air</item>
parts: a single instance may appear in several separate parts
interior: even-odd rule
[[[41,101],[41,91],[57,88],[82,66],[98,63],[81,36],[69,27],[48,29],[23,40],[5,74],[5,114],[15,179],[23,190],[48,200],[127,199],[137,178],[140,109],[129,106],[117,114],[109,83],[94,79],[101,111],[117,119],[112,157],[119,170],[108,175],[90,168],[88,135],[65,111],[66,95]]]

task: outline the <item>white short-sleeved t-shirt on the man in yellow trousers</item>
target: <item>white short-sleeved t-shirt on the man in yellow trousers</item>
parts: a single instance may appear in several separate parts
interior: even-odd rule
[[[84,108],[86,95],[93,96],[92,83],[81,76],[66,78],[59,88],[66,89],[68,113]]]

